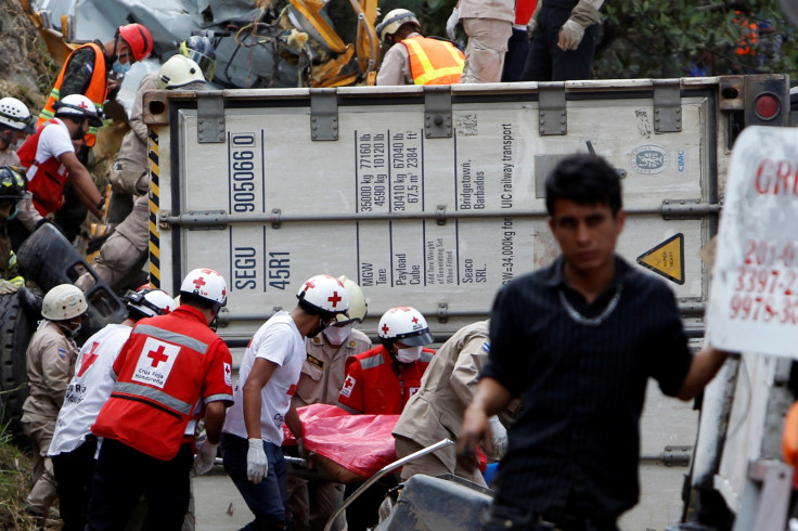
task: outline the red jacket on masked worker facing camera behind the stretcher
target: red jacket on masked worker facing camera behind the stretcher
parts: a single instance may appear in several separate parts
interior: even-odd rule
[[[423,349],[413,364],[394,372],[394,361],[382,345],[346,361],[346,380],[338,402],[350,410],[371,415],[399,415],[410,397],[421,387],[424,371],[435,351]]]

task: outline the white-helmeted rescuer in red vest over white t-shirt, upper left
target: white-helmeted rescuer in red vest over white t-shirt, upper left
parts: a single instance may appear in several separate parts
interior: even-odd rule
[[[102,217],[104,200],[94,181],[75,155],[74,140],[80,140],[90,125],[102,120],[94,105],[85,95],[72,94],[55,104],[55,117],[39,126],[17,154],[26,170],[31,202],[25,202],[24,224],[12,225],[12,245],[17,248],[42,218],[52,221],[64,204],[64,186],[73,183],[80,200],[96,217]],[[23,219],[21,219],[23,221]]]

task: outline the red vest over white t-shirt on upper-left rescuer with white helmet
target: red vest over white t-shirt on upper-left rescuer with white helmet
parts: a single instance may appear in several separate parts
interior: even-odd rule
[[[42,124],[16,152],[20,156],[20,164],[27,173],[28,192],[34,194],[34,206],[41,216],[55,212],[61,208],[64,203],[64,185],[68,177],[66,167],[55,157],[50,157],[41,164],[36,161],[41,131],[53,121],[63,124],[57,118]]]

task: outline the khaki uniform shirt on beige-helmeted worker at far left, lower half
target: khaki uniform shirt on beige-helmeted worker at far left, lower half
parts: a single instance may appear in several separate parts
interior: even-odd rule
[[[75,373],[77,355],[75,341],[67,338],[57,324],[42,322],[25,353],[30,396],[22,407],[23,423],[55,420]]]

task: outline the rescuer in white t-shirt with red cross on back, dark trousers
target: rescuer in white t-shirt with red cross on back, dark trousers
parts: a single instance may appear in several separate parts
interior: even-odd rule
[[[138,321],[164,315],[177,306],[166,292],[149,287],[129,292],[125,299],[127,319],[105,326],[80,349],[75,376],[66,389],[50,442],[48,456],[53,462],[57,481],[64,531],[82,531],[86,527],[98,448],[91,425],[114,388],[111,368]]]

